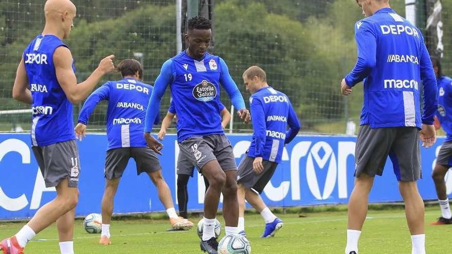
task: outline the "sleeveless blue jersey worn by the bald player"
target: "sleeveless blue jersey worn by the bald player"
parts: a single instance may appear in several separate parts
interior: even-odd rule
[[[25,70],[33,102],[31,143],[48,146],[76,139],[72,104],[56,79],[53,52],[67,47],[55,35],[37,35],[24,51]],[[72,63],[72,69],[76,69]]]

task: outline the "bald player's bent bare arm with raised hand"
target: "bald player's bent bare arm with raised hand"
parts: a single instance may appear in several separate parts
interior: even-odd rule
[[[66,47],[59,47],[53,54],[55,73],[58,83],[66,94],[68,100],[77,104],[85,100],[91,91],[96,87],[102,76],[115,69],[113,64],[114,55],[109,55],[101,60],[99,66],[94,70],[88,79],[77,84],[76,74],[72,69],[72,54]]]

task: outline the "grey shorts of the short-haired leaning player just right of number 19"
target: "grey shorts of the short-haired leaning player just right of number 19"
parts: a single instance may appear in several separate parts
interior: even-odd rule
[[[254,158],[245,156],[238,165],[237,183],[247,189],[254,189],[262,193],[263,188],[268,184],[276,170],[278,164],[267,160],[262,160],[263,171],[257,174],[253,171]]]

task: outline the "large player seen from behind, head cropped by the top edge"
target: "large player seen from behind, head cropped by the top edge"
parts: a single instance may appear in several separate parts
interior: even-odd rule
[[[364,80],[364,103],[355,149],[355,185],[348,206],[346,254],[358,253],[375,174],[392,161],[411,233],[412,254],[425,253],[424,202],[416,181],[422,177],[420,146],[436,141],[433,120],[437,84],[421,31],[388,0],[356,0],[366,18],[355,25],[358,59],[342,81],[342,94]],[[420,89],[423,86],[421,117]],[[419,130],[421,131],[419,132]]]

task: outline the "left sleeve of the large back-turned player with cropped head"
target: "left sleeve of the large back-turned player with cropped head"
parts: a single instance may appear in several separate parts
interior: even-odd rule
[[[358,60],[353,70],[345,76],[345,82],[350,87],[363,81],[376,64],[376,36],[369,23],[356,23],[355,40]]]

